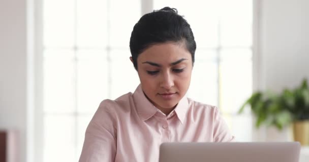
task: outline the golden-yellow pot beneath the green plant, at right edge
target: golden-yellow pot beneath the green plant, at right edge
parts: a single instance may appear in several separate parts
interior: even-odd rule
[[[302,146],[309,146],[309,120],[294,121],[294,141],[300,142]]]

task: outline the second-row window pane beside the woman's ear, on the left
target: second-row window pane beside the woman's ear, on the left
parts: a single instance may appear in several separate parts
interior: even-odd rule
[[[112,50],[111,57],[111,99],[128,92],[134,92],[139,85],[137,71],[130,61],[130,50]]]

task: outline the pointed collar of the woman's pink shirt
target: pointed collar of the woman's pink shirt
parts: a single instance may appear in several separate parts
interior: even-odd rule
[[[139,85],[135,92],[133,93],[133,100],[140,118],[145,121],[160,111],[156,106],[154,106],[145,96],[142,86]],[[186,113],[188,111],[188,99],[184,96],[175,107],[174,111],[177,114],[178,119],[181,124],[183,124],[184,118],[186,118]]]

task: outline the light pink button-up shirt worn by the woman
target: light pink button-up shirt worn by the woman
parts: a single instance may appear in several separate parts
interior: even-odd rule
[[[101,102],[87,127],[79,161],[158,162],[163,142],[232,140],[217,107],[183,97],[166,116],[138,86],[133,94]]]

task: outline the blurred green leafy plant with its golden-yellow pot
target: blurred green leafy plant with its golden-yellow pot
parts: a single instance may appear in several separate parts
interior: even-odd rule
[[[250,105],[256,116],[256,127],[262,124],[279,130],[292,124],[295,141],[309,145],[309,89],[306,79],[294,90],[285,89],[281,94],[256,92],[244,102],[239,113]]]

